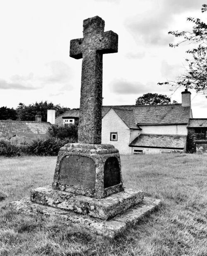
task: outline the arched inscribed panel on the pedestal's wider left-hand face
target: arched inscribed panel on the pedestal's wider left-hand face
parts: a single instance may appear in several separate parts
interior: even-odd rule
[[[65,156],[60,164],[58,182],[83,188],[95,188],[96,166],[86,156]]]

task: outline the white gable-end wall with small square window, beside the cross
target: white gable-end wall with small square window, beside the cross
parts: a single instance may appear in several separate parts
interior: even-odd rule
[[[117,132],[118,141],[110,141],[110,132]],[[112,144],[120,154],[131,154],[130,129],[122,119],[111,109],[102,118],[101,143]]]

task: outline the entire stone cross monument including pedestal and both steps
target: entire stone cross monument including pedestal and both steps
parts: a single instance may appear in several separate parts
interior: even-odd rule
[[[59,153],[53,184],[31,190],[30,200],[11,202],[19,213],[78,224],[113,237],[159,205],[140,190],[124,188],[118,149],[101,144],[103,54],[118,52],[118,35],[104,20],[83,21],[83,38],[70,41],[70,57],[82,59],[78,143]]]

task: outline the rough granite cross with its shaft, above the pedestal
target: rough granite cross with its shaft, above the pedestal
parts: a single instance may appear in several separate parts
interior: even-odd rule
[[[78,142],[101,144],[103,54],[118,52],[118,34],[104,32],[99,16],[83,21],[83,38],[70,41],[70,57],[82,60]]]

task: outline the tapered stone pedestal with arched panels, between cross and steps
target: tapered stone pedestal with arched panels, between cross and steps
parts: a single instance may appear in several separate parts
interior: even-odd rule
[[[86,158],[88,163],[90,161],[90,167],[82,168],[83,160],[79,161],[78,159]],[[73,159],[72,163],[67,159]],[[65,162],[63,163],[63,161]],[[74,161],[77,163],[75,166]],[[92,172],[93,163],[95,166],[95,179]],[[110,163],[112,164],[111,167]],[[104,177],[104,169],[106,179]],[[105,182],[107,180],[107,186],[106,183],[104,185],[104,180]],[[107,144],[65,144],[58,153],[52,188],[96,198],[103,198],[123,191],[118,150],[113,145]]]

